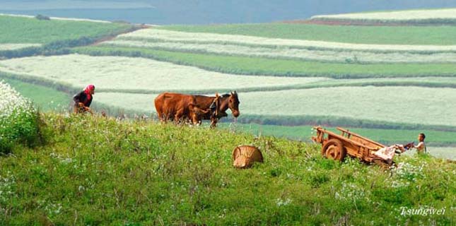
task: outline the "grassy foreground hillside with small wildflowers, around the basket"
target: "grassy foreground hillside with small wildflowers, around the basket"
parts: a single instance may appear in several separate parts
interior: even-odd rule
[[[320,147],[224,130],[45,114],[47,145],[0,156],[6,225],[452,225],[454,164],[402,156],[384,171]],[[265,162],[233,169],[240,144]],[[446,208],[401,215],[401,207]]]

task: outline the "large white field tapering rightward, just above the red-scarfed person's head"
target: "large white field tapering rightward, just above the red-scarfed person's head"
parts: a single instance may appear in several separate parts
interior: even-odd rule
[[[33,76],[83,88],[95,84],[97,90],[129,93],[156,93],[178,90],[267,90],[271,87],[303,85],[328,78],[283,78],[238,76],[205,71],[163,61],[130,57],[90,57],[70,54],[54,57],[27,57],[0,61],[0,71]]]

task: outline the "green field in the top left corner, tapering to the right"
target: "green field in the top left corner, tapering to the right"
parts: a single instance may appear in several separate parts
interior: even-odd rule
[[[37,20],[16,16],[0,16],[0,43],[49,44],[81,37],[101,37],[127,30],[120,23],[94,23],[74,20]]]

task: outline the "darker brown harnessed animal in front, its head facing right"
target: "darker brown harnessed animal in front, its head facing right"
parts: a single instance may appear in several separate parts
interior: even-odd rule
[[[216,94],[215,97],[205,95],[194,95],[194,97],[196,98],[197,106],[200,109],[209,109],[209,112],[195,115],[199,123],[201,123],[202,119],[211,119],[211,127],[216,126],[219,119],[222,117],[228,117],[228,114],[226,114],[226,110],[228,108],[231,110],[233,117],[239,117],[240,102],[238,99],[238,93],[236,93],[236,91],[234,91],[234,93],[230,92],[229,94],[227,93],[221,96],[218,96],[218,94]]]

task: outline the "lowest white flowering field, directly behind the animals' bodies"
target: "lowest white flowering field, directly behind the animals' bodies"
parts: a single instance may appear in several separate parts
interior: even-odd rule
[[[96,100],[116,107],[155,112],[155,97],[146,94],[98,93]],[[239,99],[241,115],[348,117],[391,123],[456,126],[456,91],[451,88],[313,88],[239,93]],[[125,102],[128,102],[127,106]]]

